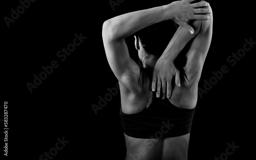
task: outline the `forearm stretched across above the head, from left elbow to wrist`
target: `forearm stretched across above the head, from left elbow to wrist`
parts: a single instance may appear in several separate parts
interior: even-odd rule
[[[103,35],[107,34],[114,39],[129,37],[147,26],[169,19],[167,12],[168,5],[165,5],[114,17],[104,22]]]

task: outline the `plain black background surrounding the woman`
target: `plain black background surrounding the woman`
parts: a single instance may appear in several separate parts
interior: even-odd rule
[[[228,159],[254,157],[253,111],[255,47],[231,66],[227,57],[255,38],[253,5],[249,1],[210,1],[214,33],[200,88],[212,71],[223,65],[229,72],[199,98],[191,129],[189,159],[214,159],[227,143],[240,146]],[[120,96],[95,115],[91,105],[109,93],[117,79],[106,60],[101,29],[114,16],[165,5],[170,1],[124,0],[113,11],[104,1],[35,1],[8,28],[4,17],[19,1],[2,2],[2,95],[8,101],[8,159],[39,159],[64,136],[69,143],[53,159],[123,159],[125,144],[119,118]],[[60,61],[57,52],[73,42],[74,34],[87,37]],[[133,39],[127,44],[133,50]],[[59,66],[29,92],[27,83],[42,66]],[[4,110],[4,108],[2,108]],[[3,111],[1,118],[3,118]],[[1,148],[4,124],[1,122]],[[4,154],[1,151],[1,157]],[[3,156],[4,157],[4,156]],[[5,157],[6,158],[6,157]],[[1,158],[2,159],[2,158]]]

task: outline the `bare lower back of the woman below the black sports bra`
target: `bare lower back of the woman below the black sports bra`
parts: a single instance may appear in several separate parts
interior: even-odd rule
[[[167,139],[136,139],[124,134],[126,142],[126,158],[141,160],[187,159],[190,133]],[[138,158],[139,157],[139,158]]]

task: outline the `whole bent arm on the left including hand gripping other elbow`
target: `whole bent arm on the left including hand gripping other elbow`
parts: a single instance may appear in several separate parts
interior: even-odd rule
[[[123,14],[106,20],[102,28],[102,37],[106,57],[119,82],[128,88],[136,88],[139,78],[139,66],[130,58],[124,39],[133,33],[157,22],[173,19],[183,24],[188,19],[208,19],[207,9],[198,9],[198,6],[207,6],[206,3],[190,4],[195,0],[183,0],[169,5],[155,7]]]

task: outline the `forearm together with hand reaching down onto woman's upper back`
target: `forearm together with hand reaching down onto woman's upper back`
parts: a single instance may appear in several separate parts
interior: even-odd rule
[[[194,27],[195,28],[195,27]],[[152,79],[152,90],[155,92],[157,89],[156,96],[164,99],[165,95],[170,98],[172,92],[172,79],[175,76],[175,83],[177,86],[180,85],[180,75],[178,68],[174,65],[174,60],[179,55],[185,45],[197,35],[199,27],[195,28],[195,34],[189,34],[183,27],[179,27],[175,32],[173,38],[168,43],[161,57],[158,59]],[[157,84],[157,86],[156,86]],[[162,94],[161,94],[162,88]]]

